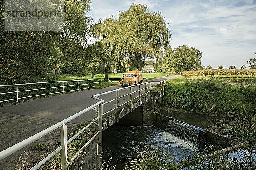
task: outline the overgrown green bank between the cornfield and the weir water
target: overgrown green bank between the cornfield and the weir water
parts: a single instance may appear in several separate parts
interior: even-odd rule
[[[163,105],[188,112],[228,115],[233,109],[256,109],[256,87],[232,88],[212,79],[188,80],[185,84],[166,85]]]

